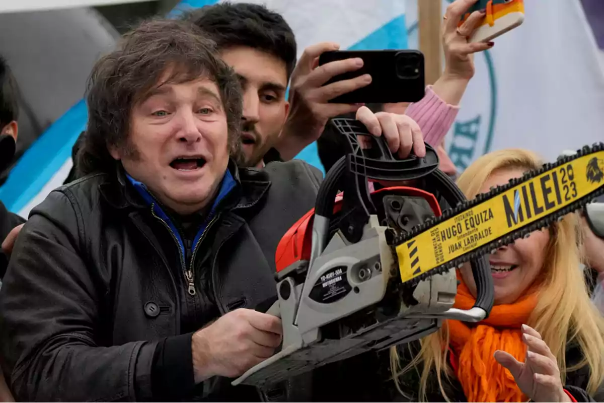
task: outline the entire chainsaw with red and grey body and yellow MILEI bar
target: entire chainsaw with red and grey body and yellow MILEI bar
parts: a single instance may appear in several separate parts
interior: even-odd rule
[[[281,318],[283,343],[233,385],[271,387],[425,337],[443,320],[483,320],[493,306],[488,254],[604,193],[602,143],[467,201],[428,144],[425,157],[396,160],[359,121],[330,124],[349,152],[327,172],[315,208],[284,235],[275,255],[277,300],[266,312]],[[361,147],[359,136],[372,146]],[[397,185],[370,192],[369,181]],[[463,310],[453,308],[454,268],[466,262],[477,298]]]

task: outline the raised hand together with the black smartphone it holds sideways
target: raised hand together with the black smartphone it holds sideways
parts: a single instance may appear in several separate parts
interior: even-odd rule
[[[415,102],[424,95],[420,52],[338,49],[330,42],[312,45],[298,60],[289,89],[289,113],[275,145],[283,160],[291,160],[317,140],[330,118],[356,112],[364,103]],[[396,77],[397,72],[408,77]],[[379,86],[373,85],[376,80]]]

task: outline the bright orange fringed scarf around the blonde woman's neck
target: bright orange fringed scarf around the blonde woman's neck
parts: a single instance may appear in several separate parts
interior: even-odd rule
[[[455,308],[470,309],[475,298],[457,276]],[[524,362],[526,352],[520,327],[527,322],[537,302],[536,294],[528,294],[510,305],[493,306],[489,317],[469,327],[458,320],[448,320],[449,340],[459,358],[457,379],[468,402],[525,402],[528,400],[513,376],[502,367],[493,354],[503,350]]]

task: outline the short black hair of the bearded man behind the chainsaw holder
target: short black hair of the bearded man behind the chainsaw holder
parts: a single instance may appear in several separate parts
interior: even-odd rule
[[[219,49],[245,46],[283,60],[288,81],[296,64],[294,31],[279,13],[263,5],[220,2],[184,14],[216,42]]]

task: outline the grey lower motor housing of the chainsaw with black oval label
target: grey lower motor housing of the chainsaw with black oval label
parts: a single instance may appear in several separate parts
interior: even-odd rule
[[[397,291],[389,289],[397,266],[386,230],[371,216],[358,242],[336,233],[310,270],[307,261],[298,260],[279,272],[278,301],[271,311],[283,322],[283,348],[244,375],[242,383],[271,384],[440,327],[440,317],[408,315],[448,311],[457,292],[455,272],[420,282],[410,298],[413,305],[401,305]]]

